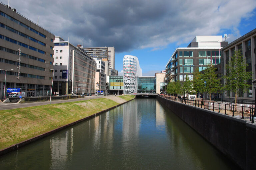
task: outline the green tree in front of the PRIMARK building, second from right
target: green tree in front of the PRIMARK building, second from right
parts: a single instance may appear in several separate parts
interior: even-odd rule
[[[217,74],[215,74],[217,68],[214,66],[209,66],[203,71],[203,81],[206,82],[205,92],[211,95],[217,93],[220,90],[220,79],[218,79]]]

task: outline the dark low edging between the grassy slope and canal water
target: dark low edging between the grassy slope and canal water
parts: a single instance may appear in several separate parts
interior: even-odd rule
[[[121,105],[123,105],[123,104],[125,104],[125,103],[127,103],[127,102],[130,102],[130,101],[134,100],[135,98],[136,98],[136,96],[135,96],[133,99],[131,99],[131,100],[125,101],[125,102],[123,102],[123,103],[120,103],[120,104],[118,104],[118,105],[116,105],[116,106],[113,106],[113,107],[108,108],[108,109],[106,109],[106,110],[103,110],[103,111],[100,111],[100,112],[98,112],[98,113],[95,113],[95,114],[93,114],[93,115],[87,116],[87,117],[82,118],[82,119],[80,119],[80,120],[78,120],[78,121],[72,122],[72,123],[67,124],[67,125],[63,125],[63,126],[61,126],[61,127],[59,127],[59,128],[55,128],[55,129],[50,130],[50,131],[48,131],[48,132],[45,132],[45,133],[43,133],[43,134],[39,134],[39,135],[37,135],[37,136],[35,136],[35,137],[32,137],[32,138],[30,138],[30,139],[27,139],[27,140],[24,140],[24,141],[22,141],[22,142],[13,144],[13,145],[11,145],[11,146],[9,146],[9,147],[6,147],[6,148],[0,150],[0,156],[3,156],[3,155],[5,155],[5,154],[7,154],[7,153],[9,153],[9,152],[12,152],[12,151],[14,151],[14,150],[17,150],[17,149],[19,149],[19,148],[22,147],[22,146],[25,146],[25,145],[27,145],[27,144],[30,144],[30,143],[32,143],[32,142],[34,142],[34,141],[37,141],[37,140],[39,140],[39,139],[42,139],[42,138],[44,138],[44,137],[46,137],[46,136],[49,136],[49,135],[51,135],[51,134],[53,134],[53,133],[55,133],[55,132],[57,132],[57,131],[60,131],[60,130],[65,129],[65,128],[68,128],[68,127],[71,127],[71,126],[76,125],[76,124],[78,124],[78,123],[80,123],[80,122],[83,122],[83,121],[85,121],[85,120],[88,120],[88,119],[90,119],[90,118],[92,118],[92,117],[96,117],[96,116],[102,114],[103,112],[106,112],[106,111],[109,111],[109,110],[111,110],[111,109],[114,109],[114,108],[116,108],[116,107],[118,107],[118,106],[121,106]],[[111,99],[110,99],[110,100],[111,100]]]

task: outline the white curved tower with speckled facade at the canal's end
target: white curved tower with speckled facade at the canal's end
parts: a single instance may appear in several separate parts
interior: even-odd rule
[[[136,56],[125,55],[123,60],[124,94],[137,93],[138,76],[142,76],[139,60]]]

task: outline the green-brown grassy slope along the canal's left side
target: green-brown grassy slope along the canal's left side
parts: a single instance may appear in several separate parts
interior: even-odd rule
[[[0,111],[0,149],[116,105],[100,98]]]

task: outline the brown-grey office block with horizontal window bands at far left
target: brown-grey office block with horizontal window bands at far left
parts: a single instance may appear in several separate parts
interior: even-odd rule
[[[21,88],[25,96],[49,95],[54,35],[1,3],[0,13],[0,98],[5,74],[5,88]]]

